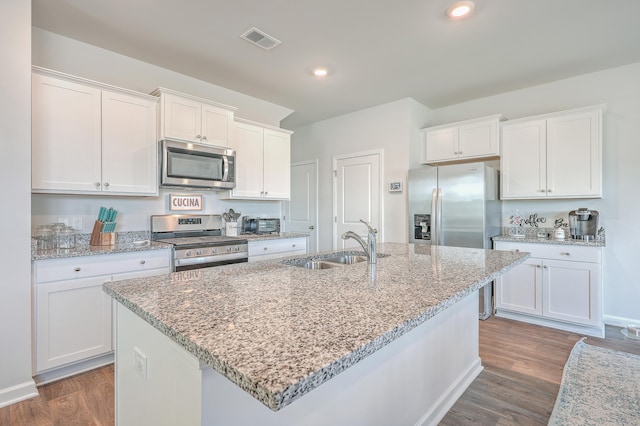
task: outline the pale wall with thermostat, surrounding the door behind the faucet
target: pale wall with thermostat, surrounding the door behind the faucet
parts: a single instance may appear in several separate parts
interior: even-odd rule
[[[389,182],[406,188],[409,156],[427,122],[429,110],[413,99],[346,114],[295,130],[292,162],[318,159],[318,241],[320,250],[333,247],[333,158],[357,152],[384,150],[383,234],[380,241],[407,242],[406,191],[390,193]]]

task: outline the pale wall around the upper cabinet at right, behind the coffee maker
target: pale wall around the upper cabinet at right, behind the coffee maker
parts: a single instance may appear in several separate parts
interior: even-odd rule
[[[607,104],[604,114],[604,197],[601,200],[505,201],[529,216],[564,217],[578,207],[598,210],[607,234],[604,314],[610,324],[640,323],[640,63],[517,90],[434,111],[430,125],[501,112],[509,119]],[[526,149],[524,147],[523,149]]]

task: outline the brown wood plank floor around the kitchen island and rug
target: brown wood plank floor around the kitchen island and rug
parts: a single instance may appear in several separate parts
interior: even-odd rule
[[[587,343],[640,355],[640,340],[607,327]],[[492,317],[480,322],[485,369],[441,425],[546,425],[562,370],[582,336]],[[113,425],[113,366],[50,383],[40,396],[0,408],[0,425]]]

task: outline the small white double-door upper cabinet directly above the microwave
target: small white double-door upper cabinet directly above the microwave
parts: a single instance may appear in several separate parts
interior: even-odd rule
[[[160,139],[180,139],[228,147],[235,107],[159,88]]]

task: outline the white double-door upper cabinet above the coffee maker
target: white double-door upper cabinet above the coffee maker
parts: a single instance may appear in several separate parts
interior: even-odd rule
[[[602,198],[602,106],[501,125],[501,199]]]

